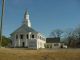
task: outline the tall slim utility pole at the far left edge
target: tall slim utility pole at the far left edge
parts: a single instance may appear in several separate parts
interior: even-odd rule
[[[0,20],[0,46],[2,44],[2,29],[3,29],[3,16],[4,16],[4,0],[2,0],[2,14]]]

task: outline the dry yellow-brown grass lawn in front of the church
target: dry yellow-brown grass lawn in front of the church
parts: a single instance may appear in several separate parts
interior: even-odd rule
[[[0,60],[80,60],[80,49],[26,50],[0,48]]]

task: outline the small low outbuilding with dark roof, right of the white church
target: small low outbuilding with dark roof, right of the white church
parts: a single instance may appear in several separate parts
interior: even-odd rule
[[[46,48],[63,48],[64,43],[60,42],[60,38],[46,38]]]

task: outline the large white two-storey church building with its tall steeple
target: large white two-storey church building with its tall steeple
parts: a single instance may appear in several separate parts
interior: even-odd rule
[[[11,33],[12,47],[45,48],[46,38],[31,27],[28,11],[24,14],[22,25]]]

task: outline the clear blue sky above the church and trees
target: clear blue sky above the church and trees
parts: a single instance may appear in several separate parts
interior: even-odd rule
[[[45,36],[52,30],[75,28],[80,24],[80,0],[5,0],[3,35],[10,37],[22,25],[26,9],[32,28]]]

